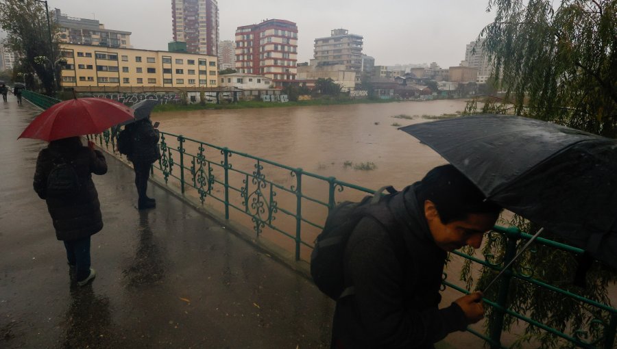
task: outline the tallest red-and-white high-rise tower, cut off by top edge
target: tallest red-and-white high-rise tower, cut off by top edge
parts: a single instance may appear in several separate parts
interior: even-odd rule
[[[173,41],[186,42],[186,51],[217,55],[219,5],[217,0],[171,0]]]

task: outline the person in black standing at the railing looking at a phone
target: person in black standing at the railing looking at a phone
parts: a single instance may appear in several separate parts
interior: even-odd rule
[[[133,140],[132,151],[127,157],[133,163],[133,169],[135,170],[135,186],[139,196],[137,208],[154,208],[156,207],[156,201],[154,198],[149,198],[146,195],[146,190],[148,188],[150,168],[154,161],[160,159],[158,130],[152,126],[149,116],[126,125],[125,129],[130,132]]]

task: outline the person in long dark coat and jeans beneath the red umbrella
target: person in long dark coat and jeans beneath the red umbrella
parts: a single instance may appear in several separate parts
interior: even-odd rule
[[[77,285],[95,278],[90,268],[90,236],[103,229],[99,195],[92,173],[105,174],[107,162],[103,153],[83,146],[81,138],[62,138],[49,142],[38,153],[34,172],[34,191],[45,199],[56,237],[64,242],[66,259]],[[47,195],[49,174],[60,162],[69,163],[79,179],[79,191],[71,196]]]

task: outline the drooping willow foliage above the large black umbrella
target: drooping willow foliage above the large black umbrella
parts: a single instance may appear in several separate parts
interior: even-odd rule
[[[615,138],[617,1],[489,0],[481,36],[515,114]]]

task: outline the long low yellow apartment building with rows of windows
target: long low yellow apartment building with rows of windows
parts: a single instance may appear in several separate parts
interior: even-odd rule
[[[217,56],[61,44],[60,83],[73,86],[217,87]]]

